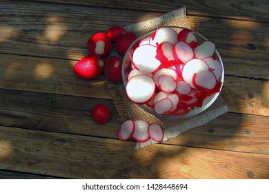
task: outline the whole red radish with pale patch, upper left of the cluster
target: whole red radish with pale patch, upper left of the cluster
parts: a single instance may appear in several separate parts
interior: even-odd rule
[[[97,54],[104,57],[111,52],[111,39],[103,32],[96,33],[88,40],[89,54]]]

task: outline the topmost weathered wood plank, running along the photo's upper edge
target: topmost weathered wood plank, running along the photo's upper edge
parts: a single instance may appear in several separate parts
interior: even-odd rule
[[[168,0],[166,3],[159,0],[151,1],[98,1],[98,0],[34,0],[50,3],[61,3],[77,6],[97,6],[101,8],[117,8],[123,10],[143,10],[150,12],[169,12],[176,8],[186,6],[188,14],[200,15],[206,17],[225,17],[229,19],[245,19],[250,21],[266,21],[269,20],[267,1],[197,1],[197,0]]]

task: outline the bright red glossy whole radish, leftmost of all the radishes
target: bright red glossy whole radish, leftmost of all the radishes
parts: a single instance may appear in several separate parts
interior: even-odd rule
[[[103,72],[103,60],[97,55],[88,55],[79,60],[73,70],[77,77],[95,79]]]

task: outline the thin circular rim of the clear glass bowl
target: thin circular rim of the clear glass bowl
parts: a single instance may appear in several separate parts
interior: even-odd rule
[[[186,29],[186,28],[183,28],[183,27],[179,27],[179,26],[161,26],[159,28],[177,28],[177,29]],[[152,30],[149,30],[148,32],[144,32],[143,34],[139,35],[139,37],[137,37],[137,39],[135,39],[135,41],[132,42],[132,44],[129,46],[128,50],[126,51],[126,54],[124,54],[124,57],[123,57],[123,65],[121,67],[121,76],[122,76],[122,79],[123,79],[123,85],[124,85],[124,88],[126,88],[126,84],[127,84],[127,81],[126,81],[126,70],[125,70],[125,66],[126,66],[126,60],[129,56],[129,52],[130,50],[132,49],[132,47],[139,41],[141,40],[142,37],[146,36],[147,34],[151,34],[152,32],[155,32],[155,30],[159,29],[159,28],[155,28],[155,29],[152,29]],[[199,32],[195,31],[195,30],[192,30],[192,32],[194,34],[197,34],[199,37],[201,37],[204,41],[208,41],[208,39],[206,37],[204,37],[202,34],[200,34]],[[146,112],[154,115],[154,116],[159,116],[160,118],[163,118],[163,119],[186,119],[186,118],[189,118],[189,117],[192,117],[192,116],[195,116],[197,114],[200,114],[201,112],[207,110],[211,105],[212,103],[214,103],[217,99],[217,97],[219,96],[222,88],[223,88],[223,83],[224,83],[224,65],[223,65],[223,61],[221,59],[221,56],[219,54],[219,52],[217,51],[217,48],[215,49],[215,54],[217,55],[217,58],[219,60],[219,62],[221,63],[222,65],[222,72],[221,72],[221,79],[219,81],[221,81],[221,88],[219,90],[219,92],[217,93],[214,93],[212,95],[212,99],[210,99],[210,101],[204,105],[203,107],[201,108],[194,108],[193,110],[190,110],[190,112],[188,112],[187,114],[168,114],[168,115],[163,115],[163,114],[157,114],[151,110],[148,110],[147,108],[145,108],[143,105],[141,104],[137,104],[140,108],[142,108],[143,110],[146,110]],[[127,96],[128,97],[128,96]],[[130,99],[129,99],[130,100]],[[131,100],[130,100],[131,103],[133,103]],[[135,103],[136,104],[136,103]]]

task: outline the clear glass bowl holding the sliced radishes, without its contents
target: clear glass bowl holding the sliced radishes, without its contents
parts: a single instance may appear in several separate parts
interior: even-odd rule
[[[181,30],[183,30],[184,28],[181,27],[177,27],[177,26],[163,26],[163,27],[168,27],[168,28],[172,28],[174,30],[177,31],[177,33],[179,33]],[[150,37],[153,32],[155,32],[155,30],[150,30],[144,34],[141,34],[128,48],[125,56],[123,57],[123,65],[122,65],[122,77],[123,77],[123,84],[126,88],[126,85],[128,83],[127,81],[127,77],[128,74],[130,72],[130,70],[132,70],[131,65],[132,65],[132,54],[135,50],[135,48],[137,47],[138,43],[142,40],[145,39],[146,37]],[[207,41],[208,39],[206,39],[206,37],[203,37],[202,34],[200,34],[199,32],[193,31],[193,33],[195,34],[195,37],[197,39],[197,43],[200,44],[203,41]],[[221,60],[221,56],[219,55],[219,52],[217,51],[217,49],[215,50],[215,53],[213,55],[214,57],[216,57],[216,59],[219,60],[219,62],[222,65],[222,74],[221,74],[221,78],[219,79],[219,81],[221,81],[221,88],[223,86],[223,81],[224,81],[224,68],[223,68],[223,62]],[[138,104],[140,108],[142,108],[143,110],[146,110],[146,112],[149,112],[150,114],[153,114],[155,116],[159,116],[161,118],[165,118],[165,119],[186,119],[188,117],[191,116],[195,116],[197,114],[200,114],[201,112],[205,111],[206,109],[208,109],[210,107],[210,105],[212,105],[212,103],[214,103],[214,101],[217,99],[217,97],[219,96],[219,93],[221,92],[221,88],[219,92],[216,92],[214,94],[212,94],[211,96],[208,96],[204,101],[203,101],[203,105],[201,106],[201,108],[193,108],[192,110],[190,110],[189,112],[187,112],[186,114],[157,114],[155,112],[155,110],[152,107],[149,107],[146,104]],[[132,101],[130,101],[132,103]]]

